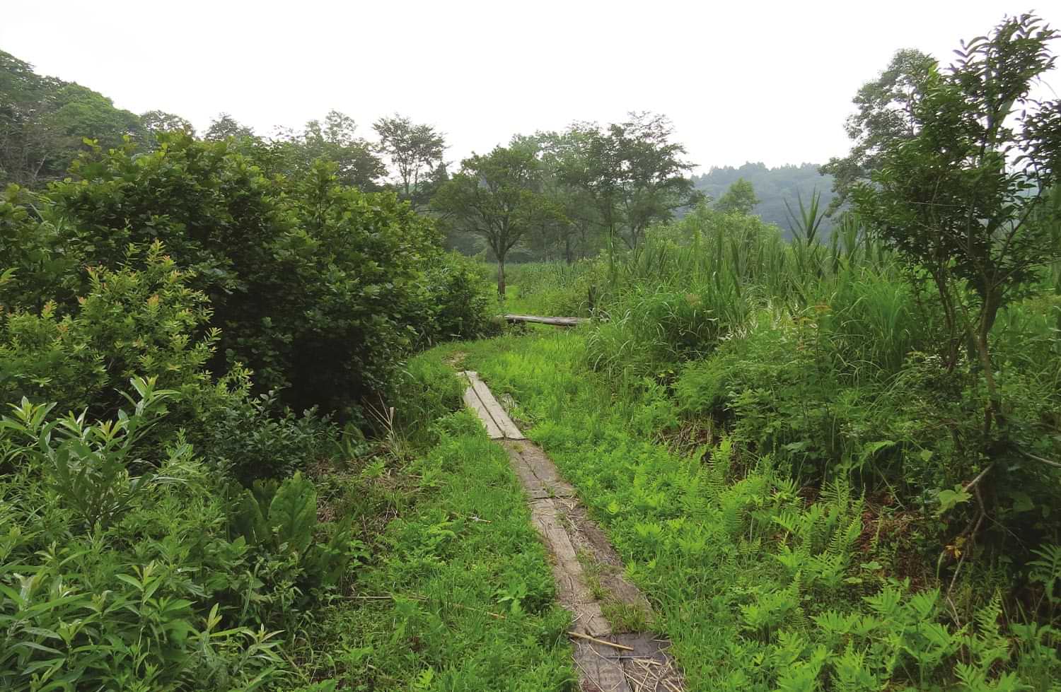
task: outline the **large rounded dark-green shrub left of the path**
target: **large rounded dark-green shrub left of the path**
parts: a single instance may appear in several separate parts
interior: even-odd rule
[[[151,153],[83,156],[32,213],[6,193],[0,247],[21,249],[0,302],[39,309],[44,296],[62,319],[92,290],[82,266],[144,268],[128,248],[161,241],[209,300],[212,371],[240,363],[296,410],[354,415],[416,345],[488,331],[472,272],[407,203],[342,187],[324,163],[297,182],[268,178],[257,154],[170,134]]]

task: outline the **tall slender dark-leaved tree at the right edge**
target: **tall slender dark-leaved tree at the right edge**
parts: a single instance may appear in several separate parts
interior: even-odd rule
[[[957,51],[949,73],[919,85],[912,135],[882,146],[855,206],[873,232],[930,278],[950,331],[975,347],[988,393],[986,427],[1005,426],[989,345],[998,310],[1061,256],[1050,201],[1061,156],[1058,102],[1030,99],[1055,64],[1057,32],[1033,15],[1006,18]]]

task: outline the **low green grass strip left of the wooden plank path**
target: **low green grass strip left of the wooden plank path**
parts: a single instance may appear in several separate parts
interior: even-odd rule
[[[408,376],[420,394],[404,401],[436,422],[408,423],[402,438],[430,447],[376,468],[381,482],[405,486],[379,512],[388,520],[376,557],[305,633],[303,673],[331,680],[306,689],[570,689],[570,616],[554,605],[544,548],[504,449],[470,412],[445,411],[459,393],[451,368],[417,358]]]

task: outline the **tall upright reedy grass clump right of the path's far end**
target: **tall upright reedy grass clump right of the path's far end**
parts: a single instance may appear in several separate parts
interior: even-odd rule
[[[660,375],[738,336],[760,310],[818,320],[858,375],[894,372],[915,348],[915,301],[890,255],[847,216],[828,242],[817,197],[793,214],[794,239],[754,216],[698,208],[621,258],[588,336],[610,376]]]

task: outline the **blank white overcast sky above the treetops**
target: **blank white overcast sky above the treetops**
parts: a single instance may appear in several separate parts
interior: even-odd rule
[[[372,121],[397,111],[446,132],[456,161],[516,132],[651,110],[671,117],[701,170],[842,155],[851,97],[895,50],[949,64],[960,39],[1036,8],[1011,0],[5,4],[0,50],[121,108],[159,108],[201,130],[220,111],[267,135],[335,108],[372,137]],[[1039,5],[1061,25],[1061,3]],[[1047,82],[1061,91],[1057,71]]]

